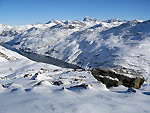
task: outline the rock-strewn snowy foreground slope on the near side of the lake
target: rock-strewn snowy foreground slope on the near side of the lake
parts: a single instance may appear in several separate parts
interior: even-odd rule
[[[89,71],[31,61],[0,46],[0,113],[150,113],[149,79],[136,93]]]

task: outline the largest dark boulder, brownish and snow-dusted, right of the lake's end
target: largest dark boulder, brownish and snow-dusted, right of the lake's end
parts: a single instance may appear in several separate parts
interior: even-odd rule
[[[107,88],[123,85],[129,88],[139,89],[145,79],[134,71],[119,68],[92,69],[92,75]]]

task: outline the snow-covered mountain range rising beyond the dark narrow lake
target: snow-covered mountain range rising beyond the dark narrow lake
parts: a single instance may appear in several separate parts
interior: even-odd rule
[[[0,25],[0,42],[80,67],[124,67],[150,73],[150,20],[51,20],[46,24]]]

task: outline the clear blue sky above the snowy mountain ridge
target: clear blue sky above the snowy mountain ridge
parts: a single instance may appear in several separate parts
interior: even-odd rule
[[[51,19],[150,19],[150,0],[0,0],[0,23],[24,25]]]

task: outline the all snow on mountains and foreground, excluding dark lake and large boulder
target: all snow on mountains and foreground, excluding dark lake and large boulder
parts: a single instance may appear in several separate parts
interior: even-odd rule
[[[133,69],[146,79],[136,93],[124,86],[107,89],[90,71],[34,62],[0,46],[0,112],[150,113],[149,29],[150,21],[89,17],[25,26],[0,24],[0,42],[15,48],[86,69]]]

